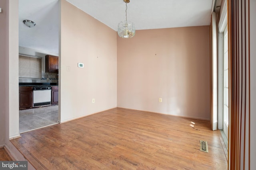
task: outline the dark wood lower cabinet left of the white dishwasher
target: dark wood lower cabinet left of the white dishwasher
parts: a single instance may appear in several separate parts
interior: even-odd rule
[[[31,108],[33,107],[33,87],[20,86],[19,87],[19,108]]]

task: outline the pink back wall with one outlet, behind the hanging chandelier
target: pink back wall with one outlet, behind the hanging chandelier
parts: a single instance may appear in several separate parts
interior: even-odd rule
[[[118,37],[117,106],[210,119],[209,33],[199,26]]]

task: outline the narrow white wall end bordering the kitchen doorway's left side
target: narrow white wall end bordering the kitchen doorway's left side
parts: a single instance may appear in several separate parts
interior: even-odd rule
[[[6,48],[6,59],[8,73],[6,81],[6,143],[9,138],[18,137],[19,134],[19,79],[18,79],[18,54],[19,54],[19,35],[18,35],[18,0],[9,0],[9,20],[8,20],[8,45]]]

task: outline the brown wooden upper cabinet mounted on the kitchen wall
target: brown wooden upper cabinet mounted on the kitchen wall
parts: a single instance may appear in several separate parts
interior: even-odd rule
[[[45,72],[58,72],[59,57],[53,55],[45,56]]]

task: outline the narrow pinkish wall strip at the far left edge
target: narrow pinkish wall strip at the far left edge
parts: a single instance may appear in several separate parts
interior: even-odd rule
[[[5,144],[5,113],[6,113],[6,36],[7,34],[7,6],[6,0],[0,1],[0,147]]]

